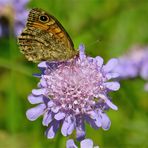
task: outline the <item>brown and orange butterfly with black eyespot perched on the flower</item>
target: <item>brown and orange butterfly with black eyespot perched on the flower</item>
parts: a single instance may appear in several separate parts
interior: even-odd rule
[[[65,61],[78,54],[74,44],[59,21],[45,11],[35,8],[18,37],[21,52],[29,61]]]

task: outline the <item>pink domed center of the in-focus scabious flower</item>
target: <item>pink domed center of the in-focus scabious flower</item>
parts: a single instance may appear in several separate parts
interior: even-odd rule
[[[102,75],[95,64],[76,63],[69,67],[60,67],[48,77],[48,95],[63,110],[76,114],[92,110],[94,97],[100,91]],[[99,85],[98,85],[99,84]]]

